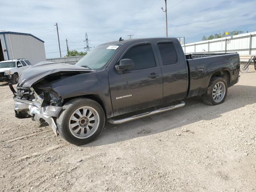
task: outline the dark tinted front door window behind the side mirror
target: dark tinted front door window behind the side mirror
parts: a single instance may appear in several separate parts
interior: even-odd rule
[[[156,66],[156,60],[150,44],[138,45],[130,48],[122,59],[131,59],[134,67],[131,70]]]

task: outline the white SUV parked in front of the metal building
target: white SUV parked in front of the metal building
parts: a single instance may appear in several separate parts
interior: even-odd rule
[[[27,59],[12,59],[0,62],[0,82],[17,84],[22,71],[31,67]]]

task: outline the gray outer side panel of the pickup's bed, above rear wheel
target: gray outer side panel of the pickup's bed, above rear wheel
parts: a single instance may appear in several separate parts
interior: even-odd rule
[[[239,54],[189,54],[186,55],[189,70],[188,97],[202,95],[206,92],[210,78],[226,77],[228,86],[237,82],[240,68]],[[232,70],[234,69],[234,74]]]

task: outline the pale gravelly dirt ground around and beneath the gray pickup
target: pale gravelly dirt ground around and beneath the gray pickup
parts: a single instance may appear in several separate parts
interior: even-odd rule
[[[0,84],[0,189],[75,192],[256,192],[256,72],[218,106],[186,106],[120,125],[74,146],[14,117]]]

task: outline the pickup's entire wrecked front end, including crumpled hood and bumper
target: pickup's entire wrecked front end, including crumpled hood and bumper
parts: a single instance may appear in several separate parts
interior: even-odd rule
[[[47,122],[57,135],[56,118],[62,110],[64,100],[54,89],[66,85],[72,76],[90,72],[94,71],[81,66],[50,62],[40,62],[24,70],[17,90],[12,84],[9,85],[14,94],[16,117],[31,116],[32,120],[41,124]]]

